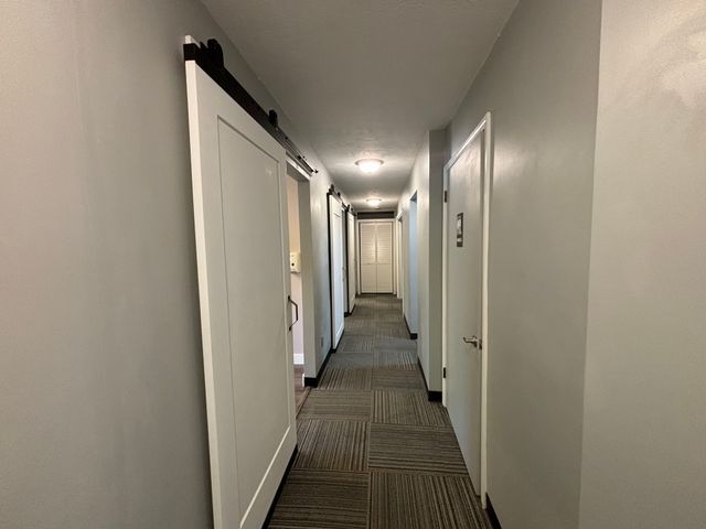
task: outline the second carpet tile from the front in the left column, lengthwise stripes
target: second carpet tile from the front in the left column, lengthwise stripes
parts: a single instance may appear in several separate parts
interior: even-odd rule
[[[367,471],[368,429],[362,421],[300,420],[295,468]]]

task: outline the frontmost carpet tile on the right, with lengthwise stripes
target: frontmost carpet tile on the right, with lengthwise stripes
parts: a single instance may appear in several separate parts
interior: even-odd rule
[[[373,473],[371,529],[486,529],[467,476]]]

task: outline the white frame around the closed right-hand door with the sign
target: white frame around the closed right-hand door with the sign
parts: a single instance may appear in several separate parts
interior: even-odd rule
[[[491,112],[485,112],[483,119],[473,129],[466,139],[459,150],[443,166],[443,195],[445,198],[449,188],[449,173],[451,168],[458,162],[459,158],[469,148],[469,145],[480,136],[484,134],[485,144],[483,145],[483,228],[482,228],[482,284],[481,284],[481,483],[480,496],[483,508],[486,507],[485,498],[488,495],[488,356],[490,343],[488,339],[488,250],[490,236],[490,196],[491,185],[493,181],[493,137]],[[447,367],[448,354],[448,336],[447,336],[447,302],[448,302],[448,222],[449,222],[449,204],[443,201],[443,253],[442,253],[442,288],[441,288],[441,361],[443,369]],[[447,385],[446,378],[441,379],[442,402],[446,406]]]

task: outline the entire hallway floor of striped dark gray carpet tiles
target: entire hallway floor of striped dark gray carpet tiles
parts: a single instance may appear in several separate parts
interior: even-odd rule
[[[297,433],[272,529],[490,527],[391,295],[357,299]]]

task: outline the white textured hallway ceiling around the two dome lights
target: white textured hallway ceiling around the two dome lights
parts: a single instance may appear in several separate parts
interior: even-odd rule
[[[359,209],[396,205],[517,0],[203,0]],[[385,161],[374,176],[361,158]]]

